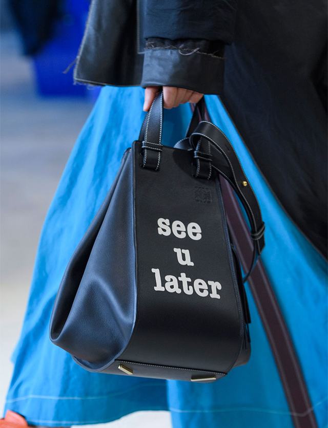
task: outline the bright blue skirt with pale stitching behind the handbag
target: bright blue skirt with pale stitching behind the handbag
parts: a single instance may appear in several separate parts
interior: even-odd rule
[[[40,236],[5,411],[30,424],[113,421],[140,410],[169,410],[174,428],[293,428],[288,403],[252,294],[249,363],[210,384],[89,373],[50,342],[54,298],[66,265],[138,138],[144,89],[105,87],[67,162]],[[277,203],[219,98],[211,118],[229,137],[258,197],[266,225],[262,262],[300,359],[319,428],[327,426],[326,263]],[[163,144],[183,138],[189,104],[165,110]],[[270,161],[270,160],[268,160]]]

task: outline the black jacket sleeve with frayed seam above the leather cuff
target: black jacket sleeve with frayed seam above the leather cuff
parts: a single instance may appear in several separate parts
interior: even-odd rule
[[[234,36],[236,0],[147,0],[141,87],[223,92],[224,46]]]

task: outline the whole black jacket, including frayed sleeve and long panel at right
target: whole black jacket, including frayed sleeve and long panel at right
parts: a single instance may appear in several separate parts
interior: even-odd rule
[[[93,0],[74,79],[220,95],[282,208],[326,255],[326,28],[325,0]]]

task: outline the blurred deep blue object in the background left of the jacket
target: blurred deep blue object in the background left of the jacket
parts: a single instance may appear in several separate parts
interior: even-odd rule
[[[79,96],[96,99],[99,87],[74,84],[73,67],[83,37],[90,2],[66,0],[63,15],[54,23],[53,36],[33,55],[35,83],[39,95]]]

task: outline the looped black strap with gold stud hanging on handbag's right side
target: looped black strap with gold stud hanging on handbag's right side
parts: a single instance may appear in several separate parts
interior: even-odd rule
[[[194,148],[194,159],[197,164],[195,177],[210,179],[212,169],[216,170],[231,184],[247,213],[254,251],[249,272],[243,278],[243,282],[245,282],[265,245],[265,225],[262,221],[258,200],[245,176],[233,145],[217,126],[206,120],[201,121],[189,140]]]

